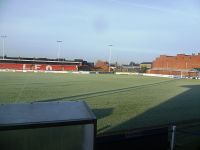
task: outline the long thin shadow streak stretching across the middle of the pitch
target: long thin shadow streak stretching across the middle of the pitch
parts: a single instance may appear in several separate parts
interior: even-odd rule
[[[41,100],[39,102],[59,101],[59,100],[81,100],[81,99],[87,99],[87,98],[94,98],[94,97],[98,97],[98,96],[105,96],[105,95],[111,95],[111,94],[116,94],[116,93],[128,92],[128,91],[131,91],[131,90],[134,90],[134,89],[142,89],[142,88],[147,88],[147,87],[151,87],[151,86],[159,86],[161,84],[168,84],[168,83],[171,83],[171,82],[174,82],[174,80],[162,81],[162,82],[151,83],[151,84],[144,84],[144,85],[139,85],[139,86],[131,86],[131,87],[126,87],[126,88],[114,89],[114,90],[104,90],[104,91],[99,91],[99,92],[90,92],[90,93],[78,94],[78,95],[68,96],[68,97]]]

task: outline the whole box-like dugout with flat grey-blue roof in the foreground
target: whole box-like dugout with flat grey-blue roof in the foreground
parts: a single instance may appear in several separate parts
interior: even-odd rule
[[[95,137],[84,102],[0,105],[1,150],[93,150]]]

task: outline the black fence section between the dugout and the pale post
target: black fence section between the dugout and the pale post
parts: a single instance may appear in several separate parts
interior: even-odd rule
[[[168,127],[130,131],[109,136],[100,136],[96,139],[97,150],[167,150]]]

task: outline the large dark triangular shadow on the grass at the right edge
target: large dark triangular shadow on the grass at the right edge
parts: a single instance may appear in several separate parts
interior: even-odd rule
[[[184,87],[188,90],[106,132],[200,120],[200,85]]]

